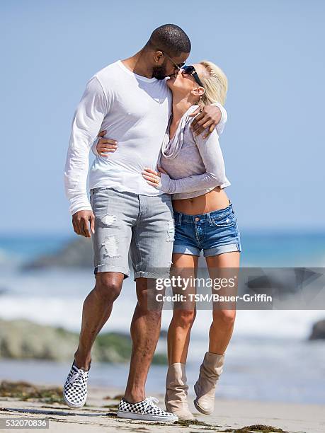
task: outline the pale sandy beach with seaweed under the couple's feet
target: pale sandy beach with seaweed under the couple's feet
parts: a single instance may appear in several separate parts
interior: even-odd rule
[[[42,388],[36,387],[41,390]],[[55,388],[59,400],[60,388]],[[322,405],[261,403],[244,400],[216,400],[213,415],[200,415],[191,404],[197,421],[164,425],[154,422],[120,420],[116,417],[121,390],[89,388],[89,398],[81,410],[72,410],[55,398],[29,398],[1,395],[3,418],[49,420],[50,432],[295,432],[323,433],[325,411]],[[164,407],[164,396],[156,395]],[[22,400],[23,398],[23,400]],[[50,402],[50,403],[49,403]],[[19,429],[30,432],[30,429]]]

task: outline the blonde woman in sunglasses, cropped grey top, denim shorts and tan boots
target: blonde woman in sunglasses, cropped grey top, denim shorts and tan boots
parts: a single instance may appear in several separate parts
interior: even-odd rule
[[[190,114],[198,104],[222,103],[227,93],[227,78],[211,62],[183,67],[168,81],[173,93],[173,112],[161,148],[159,171],[142,172],[149,185],[172,194],[175,240],[173,273],[186,270],[195,277],[201,250],[210,277],[220,268],[239,267],[240,233],[232,203],[224,188],[229,186],[224,170],[218,131],[208,137],[195,137]],[[97,144],[101,154],[107,144]],[[115,151],[112,149],[110,151]],[[195,290],[191,287],[190,290]],[[195,320],[193,303],[174,306],[168,333],[169,370],[166,379],[166,410],[181,419],[193,419],[188,408],[186,359],[190,329]],[[236,310],[234,305],[213,308],[209,350],[200,366],[194,389],[195,408],[204,414],[214,410],[215,386],[224,364],[224,352],[232,337]]]

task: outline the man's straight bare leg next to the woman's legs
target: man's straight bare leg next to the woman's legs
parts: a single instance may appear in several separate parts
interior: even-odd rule
[[[125,400],[136,403],[144,400],[144,386],[161,326],[161,306],[148,308],[148,291],[154,290],[156,280],[137,278],[137,306],[131,323],[132,355]]]

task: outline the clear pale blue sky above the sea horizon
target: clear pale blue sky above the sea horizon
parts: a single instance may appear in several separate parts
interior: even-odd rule
[[[159,7],[159,5],[161,5]],[[164,23],[229,79],[221,146],[241,229],[325,229],[322,1],[1,1],[0,233],[72,233],[63,171],[86,81]]]

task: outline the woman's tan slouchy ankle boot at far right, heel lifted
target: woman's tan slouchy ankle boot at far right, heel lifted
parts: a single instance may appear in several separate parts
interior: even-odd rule
[[[194,385],[195,408],[205,415],[209,415],[215,409],[215,387],[220,374],[222,374],[223,365],[224,354],[206,352],[200,366],[198,381]]]

